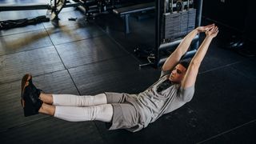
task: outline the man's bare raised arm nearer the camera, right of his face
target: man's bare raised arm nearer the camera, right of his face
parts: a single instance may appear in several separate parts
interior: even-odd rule
[[[201,65],[202,59],[206,55],[206,51],[208,50],[210,46],[210,42],[213,38],[215,38],[218,34],[218,27],[214,26],[210,30],[206,30],[206,38],[202,42],[201,46],[198,48],[197,53],[194,55],[194,58],[192,58],[190,62],[190,66],[186,70],[185,77],[182,80],[182,88],[187,88],[190,86],[194,86],[194,83],[196,81],[197,75],[198,75],[198,69]]]

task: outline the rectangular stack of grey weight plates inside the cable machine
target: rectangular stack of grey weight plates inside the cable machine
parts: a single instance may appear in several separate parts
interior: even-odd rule
[[[162,16],[161,39],[163,42],[171,42],[194,30],[196,9],[183,10],[172,14],[165,13]]]

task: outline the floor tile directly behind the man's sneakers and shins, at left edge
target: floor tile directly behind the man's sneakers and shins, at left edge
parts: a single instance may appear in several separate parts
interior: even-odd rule
[[[33,82],[47,94],[78,94],[67,70],[33,77]],[[0,133],[46,117],[42,114],[23,116],[20,80],[0,85],[0,94]]]

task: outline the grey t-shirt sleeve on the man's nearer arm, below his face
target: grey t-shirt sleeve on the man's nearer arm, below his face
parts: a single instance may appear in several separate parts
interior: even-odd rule
[[[194,86],[187,88],[180,87],[179,89],[179,98],[184,102],[190,102],[194,95]]]

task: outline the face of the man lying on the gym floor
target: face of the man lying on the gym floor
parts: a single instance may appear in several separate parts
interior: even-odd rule
[[[171,71],[169,80],[171,82],[180,83],[182,82],[182,79],[184,78],[185,74],[186,74],[186,68],[181,64],[178,64],[177,66],[174,67],[174,70]]]

